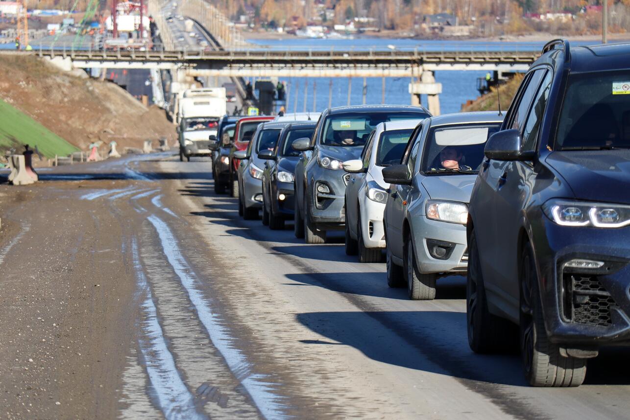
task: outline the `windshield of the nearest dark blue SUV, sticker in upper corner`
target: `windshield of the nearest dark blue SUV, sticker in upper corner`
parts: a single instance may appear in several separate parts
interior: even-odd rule
[[[616,148],[630,148],[630,72],[572,74],[555,149]]]

